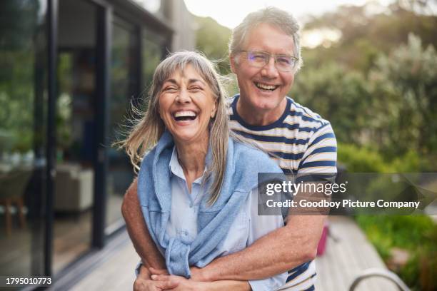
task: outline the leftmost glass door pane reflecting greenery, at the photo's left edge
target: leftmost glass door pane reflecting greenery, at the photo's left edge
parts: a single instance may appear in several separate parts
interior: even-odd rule
[[[0,276],[43,275],[47,1],[0,1]]]

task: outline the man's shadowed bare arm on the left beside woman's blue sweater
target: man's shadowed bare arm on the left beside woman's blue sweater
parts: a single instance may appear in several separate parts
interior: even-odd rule
[[[121,213],[126,221],[129,237],[134,244],[136,252],[141,257],[141,261],[146,267],[166,269],[164,257],[162,257],[156,247],[144,222],[136,188],[137,180],[135,179],[126,191],[123,204],[121,205]]]

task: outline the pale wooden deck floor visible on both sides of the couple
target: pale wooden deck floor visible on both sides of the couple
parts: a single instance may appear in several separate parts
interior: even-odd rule
[[[348,290],[354,277],[369,267],[385,267],[373,246],[350,218],[331,217],[326,252],[316,259],[318,282],[316,290]],[[72,290],[132,290],[134,267],[139,261],[125,234],[126,243],[89,272]],[[383,279],[361,282],[358,291],[391,291],[396,287]]]

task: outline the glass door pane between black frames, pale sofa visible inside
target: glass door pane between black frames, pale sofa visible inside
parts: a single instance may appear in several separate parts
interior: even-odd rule
[[[96,124],[96,6],[59,1],[53,270],[91,247]]]

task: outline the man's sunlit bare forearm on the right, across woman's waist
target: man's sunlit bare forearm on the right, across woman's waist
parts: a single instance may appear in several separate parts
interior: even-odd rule
[[[192,278],[253,280],[291,270],[316,257],[325,219],[324,215],[289,215],[286,226],[268,233],[246,249],[218,257],[202,269],[191,268]]]

